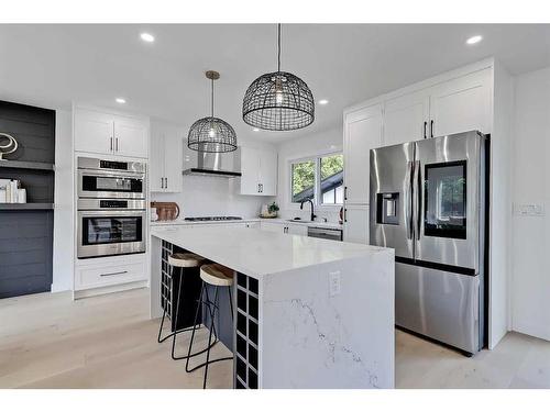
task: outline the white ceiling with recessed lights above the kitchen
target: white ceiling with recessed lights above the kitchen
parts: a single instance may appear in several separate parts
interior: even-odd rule
[[[156,41],[142,42],[143,31]],[[483,42],[466,46],[473,34]],[[488,56],[513,74],[550,66],[550,24],[283,25],[282,69],[330,103],[316,107],[305,130],[251,133],[242,98],[276,69],[275,24],[0,25],[0,98],[61,108],[82,101],[188,126],[209,113],[204,73],[216,69],[217,115],[238,135],[276,143],[338,126],[348,105]]]

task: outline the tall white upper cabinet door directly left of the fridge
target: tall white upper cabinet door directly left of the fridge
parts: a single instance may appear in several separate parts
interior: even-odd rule
[[[344,186],[348,203],[369,203],[370,151],[381,144],[381,104],[345,116]]]

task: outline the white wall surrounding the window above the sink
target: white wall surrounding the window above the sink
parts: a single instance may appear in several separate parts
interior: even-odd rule
[[[278,145],[278,183],[277,202],[280,207],[280,215],[286,219],[300,216],[308,219],[309,207],[300,211],[299,207],[290,203],[290,169],[289,162],[302,157],[316,156],[327,153],[342,152],[343,134],[342,126],[323,132],[293,138]],[[318,218],[327,218],[331,222],[338,221],[339,207],[317,208]]]

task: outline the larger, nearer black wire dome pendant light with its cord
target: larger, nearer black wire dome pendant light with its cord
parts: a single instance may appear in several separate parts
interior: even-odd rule
[[[315,100],[299,77],[280,71],[280,24],[277,25],[277,71],[260,76],[249,86],[242,118],[251,126],[271,131],[306,127],[315,119]]]

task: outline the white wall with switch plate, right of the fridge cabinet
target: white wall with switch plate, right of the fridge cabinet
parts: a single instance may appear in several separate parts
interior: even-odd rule
[[[546,215],[513,216],[512,325],[550,339],[550,67],[516,78],[513,201]]]

